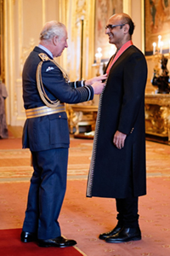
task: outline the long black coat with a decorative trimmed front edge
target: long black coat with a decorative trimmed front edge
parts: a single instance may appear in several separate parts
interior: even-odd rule
[[[111,67],[100,96],[87,196],[126,198],[146,194],[144,89],[147,65],[130,46]],[[125,146],[113,144],[116,131],[127,134]]]

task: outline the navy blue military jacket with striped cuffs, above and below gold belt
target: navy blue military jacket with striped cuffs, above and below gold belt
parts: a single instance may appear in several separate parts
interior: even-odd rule
[[[24,107],[38,108],[44,106],[37,90],[38,56],[45,53],[35,47],[28,56],[22,74]],[[49,58],[51,58],[48,55]],[[78,103],[92,100],[94,90],[92,86],[82,86],[82,81],[67,83],[53,61],[44,61],[42,64],[42,83],[50,100],[59,99],[60,102]],[[65,112],[54,113],[42,117],[26,119],[23,130],[23,148],[31,151],[42,151],[51,148],[69,148],[69,128]]]

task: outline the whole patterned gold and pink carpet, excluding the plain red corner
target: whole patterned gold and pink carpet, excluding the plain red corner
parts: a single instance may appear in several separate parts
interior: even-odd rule
[[[7,141],[0,141],[0,230],[21,228],[32,172],[29,150],[20,149],[20,139]],[[77,240],[88,256],[169,256],[170,147],[146,142],[147,195],[139,199],[142,241],[108,244],[98,236],[116,224],[115,201],[85,196],[92,146],[92,140],[71,137],[67,191],[59,217],[62,234]]]

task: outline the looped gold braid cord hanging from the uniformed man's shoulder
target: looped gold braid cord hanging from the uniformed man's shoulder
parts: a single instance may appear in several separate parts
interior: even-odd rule
[[[66,82],[69,81],[69,77],[67,75],[67,73],[65,72],[64,68],[60,67],[59,64],[48,58],[48,55],[44,54],[44,53],[41,53],[39,54],[39,57],[42,59],[42,61],[39,62],[38,66],[37,66],[37,74],[36,74],[36,77],[37,77],[37,90],[39,92],[39,95],[42,99],[42,102],[48,106],[49,108],[56,108],[58,105],[59,105],[59,100],[55,100],[55,101],[51,101],[47,95],[47,93],[45,92],[45,89],[43,87],[43,83],[42,83],[42,63],[43,61],[52,61],[54,62],[54,64],[59,67],[60,71],[63,73],[63,77],[64,79],[66,80]]]

